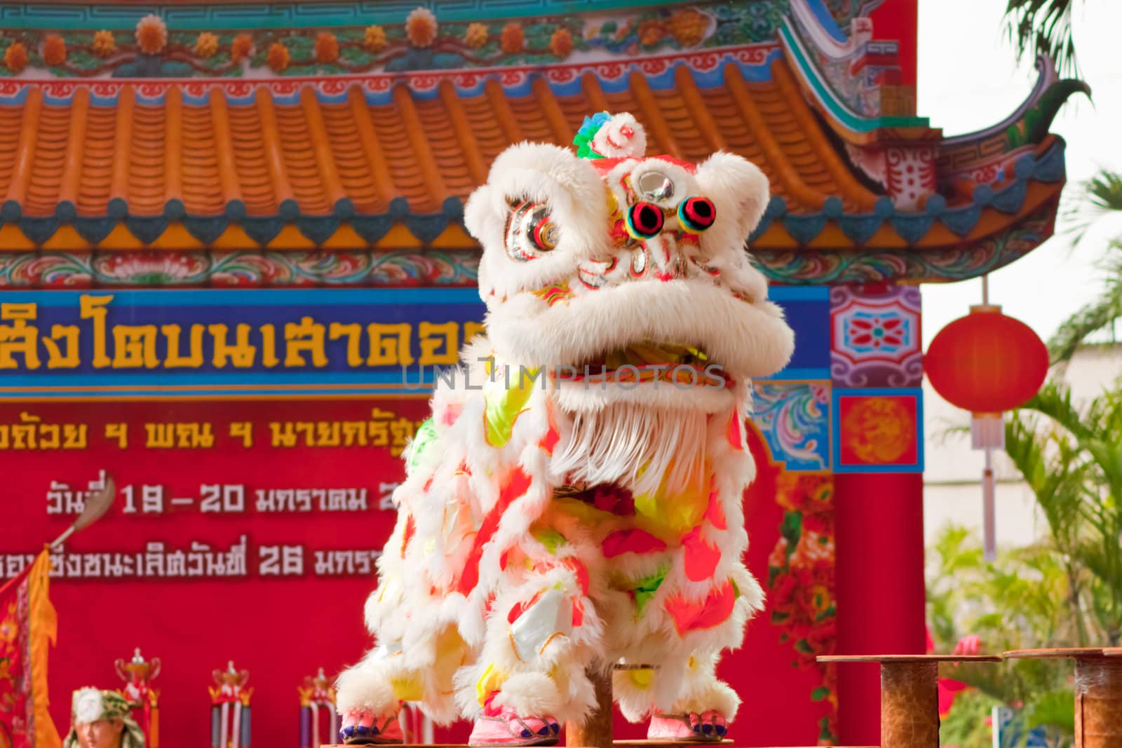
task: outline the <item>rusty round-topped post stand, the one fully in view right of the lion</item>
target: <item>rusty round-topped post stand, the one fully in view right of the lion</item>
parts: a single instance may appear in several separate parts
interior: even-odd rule
[[[820,663],[880,663],[881,748],[938,748],[939,663],[1000,663],[991,655],[829,655]]]

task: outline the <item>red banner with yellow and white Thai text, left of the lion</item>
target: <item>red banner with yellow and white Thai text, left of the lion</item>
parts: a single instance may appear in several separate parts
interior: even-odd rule
[[[163,745],[209,745],[206,686],[233,659],[264,707],[254,742],[295,746],[303,677],[369,645],[362,601],[401,452],[426,417],[424,398],[0,405],[0,455],[19,467],[4,578],[76,518],[91,481],[118,489],[53,557],[57,723],[74,689],[123,685],[113,661],[140,647],[163,661]]]

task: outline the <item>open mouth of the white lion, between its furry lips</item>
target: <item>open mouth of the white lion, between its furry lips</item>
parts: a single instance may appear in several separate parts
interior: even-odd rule
[[[611,349],[573,367],[561,367],[561,381],[643,384],[664,381],[682,388],[727,387],[733,384],[724,367],[696,345],[641,341]]]

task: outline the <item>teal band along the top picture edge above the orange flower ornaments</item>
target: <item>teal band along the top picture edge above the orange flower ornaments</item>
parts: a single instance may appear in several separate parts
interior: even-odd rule
[[[502,18],[568,16],[678,4],[681,0],[362,0],[359,2],[293,2],[254,4],[186,3],[121,6],[77,3],[4,3],[0,26],[9,29],[131,30],[137,19],[154,12],[173,30],[307,28],[404,24],[414,8],[433,10],[442,22]]]

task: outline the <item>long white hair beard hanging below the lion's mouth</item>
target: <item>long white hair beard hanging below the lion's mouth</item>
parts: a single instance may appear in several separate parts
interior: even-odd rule
[[[560,482],[617,483],[642,496],[660,488],[681,491],[706,477],[708,416],[702,412],[616,403],[568,415],[572,427],[550,462]]]

